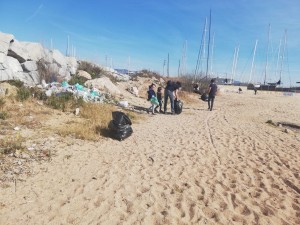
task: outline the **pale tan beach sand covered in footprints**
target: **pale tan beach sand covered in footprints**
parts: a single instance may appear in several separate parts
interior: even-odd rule
[[[235,89],[122,142],[44,140],[52,160],[1,186],[0,224],[300,224],[300,131],[266,123],[300,125],[300,95]]]

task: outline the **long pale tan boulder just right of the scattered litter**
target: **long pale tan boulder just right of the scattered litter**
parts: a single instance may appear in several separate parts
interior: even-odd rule
[[[114,85],[111,82],[111,80],[107,77],[101,77],[93,80],[88,80],[85,82],[85,86],[90,87],[91,85],[100,90],[106,90],[111,94],[115,94],[115,95],[121,94],[119,88],[116,85]]]

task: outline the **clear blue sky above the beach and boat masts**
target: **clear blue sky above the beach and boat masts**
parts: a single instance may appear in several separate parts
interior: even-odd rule
[[[178,76],[198,65],[211,77],[294,86],[299,12],[299,0],[0,0],[0,31],[115,69]]]

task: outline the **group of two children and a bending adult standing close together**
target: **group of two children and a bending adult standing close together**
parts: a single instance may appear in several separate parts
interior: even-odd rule
[[[175,114],[174,101],[178,99],[178,91],[181,89],[181,83],[179,81],[171,81],[167,82],[166,87],[164,88],[164,96],[163,96],[163,88],[158,87],[157,93],[155,93],[156,84],[152,83],[149,86],[148,90],[148,100],[151,102],[151,106],[147,109],[147,112],[151,112],[153,115],[156,113],[167,113],[167,105],[168,99],[170,99],[171,103],[171,114]],[[164,110],[162,110],[162,103],[164,99]],[[159,111],[158,111],[159,107]]]

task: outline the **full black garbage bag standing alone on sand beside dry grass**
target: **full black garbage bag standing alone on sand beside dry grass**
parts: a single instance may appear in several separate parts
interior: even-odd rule
[[[119,141],[128,138],[132,133],[131,120],[127,115],[122,112],[112,112],[113,120],[111,120],[108,124],[108,129],[110,130],[110,134],[112,138],[117,139]]]

